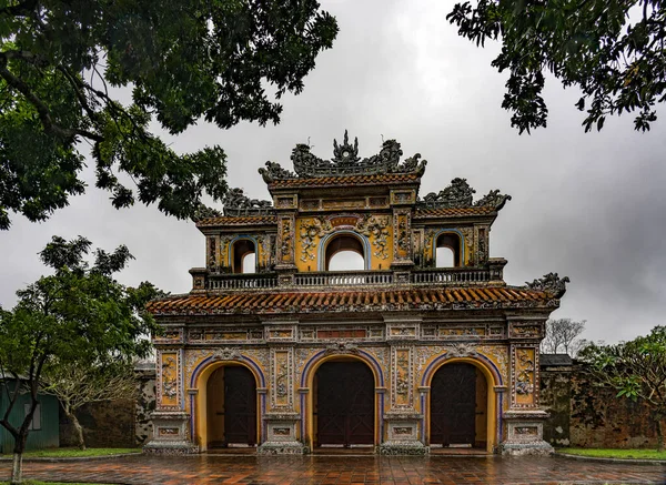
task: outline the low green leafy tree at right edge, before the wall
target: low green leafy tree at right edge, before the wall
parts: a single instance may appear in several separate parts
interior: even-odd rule
[[[589,344],[578,357],[595,380],[617,391],[618,397],[642,400],[653,411],[658,449],[664,449],[662,421],[666,417],[666,326],[616,345]]]

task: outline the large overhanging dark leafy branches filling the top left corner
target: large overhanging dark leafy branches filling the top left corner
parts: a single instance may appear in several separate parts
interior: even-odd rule
[[[219,200],[223,150],[179,154],[151,121],[171,134],[276,123],[336,32],[316,0],[0,0],[0,229],[9,211],[41,221],[83,193],[81,141],[115,208],[186,218],[202,194]]]

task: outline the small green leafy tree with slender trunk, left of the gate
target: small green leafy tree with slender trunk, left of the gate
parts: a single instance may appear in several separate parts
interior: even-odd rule
[[[94,252],[90,265],[85,256],[91,243],[84,238],[65,241],[54,236],[40,253],[54,274],[17,292],[12,311],[0,309],[0,373],[13,377],[7,384],[9,406],[0,425],[14,438],[14,473],[20,481],[21,455],[39,403],[42,376],[63,366],[131,364],[149,354],[150,334],[158,327],[145,303],[160,292],[150,283],[127,287],[113,275],[132,259],[125,246],[112,253]],[[17,424],[9,420],[23,384],[31,397],[30,412]]]

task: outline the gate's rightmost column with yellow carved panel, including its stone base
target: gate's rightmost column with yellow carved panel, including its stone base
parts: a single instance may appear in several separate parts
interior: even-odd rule
[[[538,344],[544,321],[509,320],[509,406],[503,418],[507,436],[500,445],[504,455],[547,455],[553,447],[543,438],[548,414],[539,408]]]

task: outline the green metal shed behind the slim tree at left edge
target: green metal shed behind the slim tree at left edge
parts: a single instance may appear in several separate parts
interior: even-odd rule
[[[1,381],[0,381],[1,382]],[[13,380],[9,380],[9,388],[13,390]],[[9,397],[4,392],[4,383],[2,385],[2,393],[0,395],[0,415],[4,415],[7,407],[9,406]],[[14,404],[11,414],[9,415],[9,422],[13,425],[19,425],[26,416],[27,406],[30,405],[30,394],[22,394],[19,396],[17,404]],[[58,400],[54,396],[40,394],[39,395],[39,408],[32,420],[32,426],[28,434],[28,443],[26,449],[43,449],[43,448],[57,448],[60,445],[59,438],[60,424],[58,421]],[[3,427],[0,426],[0,454],[12,453],[14,446],[13,436]]]

